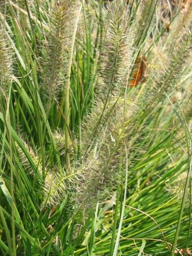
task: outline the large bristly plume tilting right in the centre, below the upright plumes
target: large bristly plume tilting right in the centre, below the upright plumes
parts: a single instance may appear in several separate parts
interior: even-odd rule
[[[108,102],[114,104],[114,100]],[[102,111],[102,107],[100,109]],[[102,134],[98,136],[95,149],[82,162],[73,166],[77,173],[75,200],[83,208],[94,207],[96,202],[102,202],[110,197],[116,185],[122,181],[122,170],[119,171],[120,159],[127,150],[133,151],[133,130],[138,107],[131,98],[122,98],[110,110]]]

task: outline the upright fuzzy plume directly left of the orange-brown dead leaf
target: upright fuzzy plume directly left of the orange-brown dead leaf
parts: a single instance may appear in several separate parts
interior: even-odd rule
[[[108,8],[109,20],[105,34],[106,43],[101,57],[101,79],[96,92],[103,101],[125,91],[132,63],[133,31],[129,22],[129,9],[114,1]]]

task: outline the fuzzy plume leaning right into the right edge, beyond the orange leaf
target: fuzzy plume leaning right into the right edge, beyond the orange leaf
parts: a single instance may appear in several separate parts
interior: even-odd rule
[[[156,71],[153,70],[153,74],[146,81],[144,92],[146,108],[162,102],[166,94],[171,93],[176,88],[184,72],[183,68],[189,62],[191,49],[192,31],[189,28],[173,50],[167,49],[167,63],[159,63],[159,68]]]

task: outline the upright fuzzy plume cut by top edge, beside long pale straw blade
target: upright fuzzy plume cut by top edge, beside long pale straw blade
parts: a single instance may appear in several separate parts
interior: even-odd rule
[[[68,69],[68,52],[74,32],[79,0],[56,0],[50,16],[50,31],[45,43],[43,63],[43,89],[48,99],[56,100],[64,85]]]

